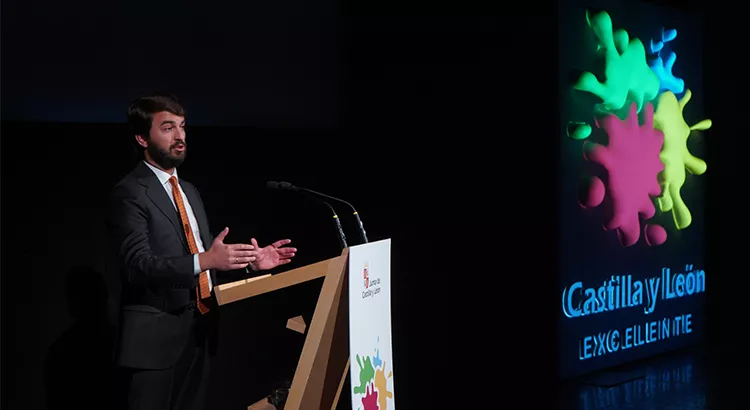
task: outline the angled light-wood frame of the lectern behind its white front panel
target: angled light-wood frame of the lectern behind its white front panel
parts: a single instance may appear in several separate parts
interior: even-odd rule
[[[214,289],[219,305],[226,305],[325,276],[285,410],[334,410],[341,397],[349,370],[348,261],[347,248],[335,258]],[[287,327],[304,332],[304,321],[300,320],[290,319]],[[265,398],[248,407],[248,410],[273,409]]]

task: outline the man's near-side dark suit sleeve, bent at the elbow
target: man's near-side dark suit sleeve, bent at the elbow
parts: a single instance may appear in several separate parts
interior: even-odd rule
[[[193,255],[161,257],[148,243],[147,211],[126,186],[109,198],[107,230],[129,283],[141,286],[192,287]]]

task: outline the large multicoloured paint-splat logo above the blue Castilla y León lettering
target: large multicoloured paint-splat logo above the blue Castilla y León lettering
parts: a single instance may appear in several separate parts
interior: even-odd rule
[[[584,72],[573,88],[599,101],[591,122],[607,143],[585,141],[583,157],[603,168],[606,177],[585,178],[579,203],[583,208],[606,204],[604,229],[616,231],[622,246],[641,237],[650,246],[661,245],[667,230],[649,220],[658,207],[671,213],[677,229],[690,226],[682,188],[688,173],[702,175],[707,166],[689,151],[688,140],[692,131],[709,129],[711,120],[690,126],[683,116],[692,92],[673,72],[677,55],[667,51],[677,30],[662,29],[660,38],[651,39],[649,61],[643,43],[624,29],[615,30],[607,12],[587,12],[586,21],[597,39],[603,79]],[[567,135],[586,140],[594,127],[571,121]]]

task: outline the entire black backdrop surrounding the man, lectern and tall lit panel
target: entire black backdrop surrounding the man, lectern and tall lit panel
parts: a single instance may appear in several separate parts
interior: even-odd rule
[[[735,272],[747,221],[729,201],[744,187],[748,90],[735,61],[743,16],[725,3],[679,7],[707,27],[707,346],[740,369],[731,318],[744,314],[747,278]],[[152,89],[190,110],[180,173],[215,232],[289,236],[300,249],[290,268],[338,254],[325,210],[267,191],[273,178],[345,197],[371,240],[393,239],[400,406],[553,398],[539,391],[558,376],[555,4],[160,4],[2,4],[3,408],[59,406],[45,395],[66,382],[79,408],[101,408],[106,326],[67,308],[104,311],[102,292],[83,280],[73,299],[65,283],[71,267],[92,267],[73,277],[101,276],[114,306],[102,205],[132,165],[125,108]],[[291,377],[302,341],[283,327],[309,314],[319,286],[226,309],[212,409],[245,408]],[[67,358],[48,362],[65,375],[48,373],[57,388],[45,389],[51,353]]]

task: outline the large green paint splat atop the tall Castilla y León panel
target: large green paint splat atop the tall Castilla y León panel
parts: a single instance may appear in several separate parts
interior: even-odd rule
[[[601,99],[599,109],[618,111],[632,101],[640,112],[659,92],[659,77],[646,62],[643,43],[637,38],[630,40],[623,29],[613,31],[612,19],[605,11],[593,15],[587,11],[586,20],[599,41],[606,79],[600,82],[594,74],[585,72],[574,88]]]

